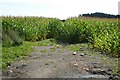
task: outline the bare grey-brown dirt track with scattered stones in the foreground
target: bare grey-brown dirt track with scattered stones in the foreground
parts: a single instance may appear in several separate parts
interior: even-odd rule
[[[86,46],[82,46],[80,51],[72,51],[65,45],[33,48],[34,52],[27,58],[11,64],[3,72],[3,78],[109,78],[112,76],[115,59],[92,51]]]

